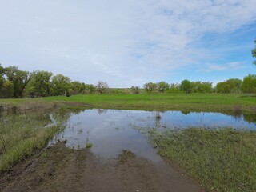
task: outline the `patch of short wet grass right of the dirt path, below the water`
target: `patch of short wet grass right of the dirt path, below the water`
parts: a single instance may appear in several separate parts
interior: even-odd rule
[[[256,191],[256,132],[191,128],[148,130],[158,153],[209,191]]]

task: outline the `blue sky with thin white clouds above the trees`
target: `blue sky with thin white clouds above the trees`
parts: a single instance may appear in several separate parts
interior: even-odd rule
[[[256,74],[256,0],[0,0],[0,63],[110,87]]]

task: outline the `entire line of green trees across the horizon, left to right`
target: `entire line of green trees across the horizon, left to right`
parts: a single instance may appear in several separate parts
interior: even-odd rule
[[[243,80],[230,78],[218,82],[190,82],[185,79],[180,83],[147,82],[143,86],[146,93],[250,93],[256,94],[256,75],[249,74]],[[138,86],[130,88],[131,94],[142,92]],[[122,94],[122,91],[110,90],[106,82],[98,81],[96,85],[84,82],[71,81],[63,74],[52,74],[48,71],[36,70],[28,72],[18,70],[16,66],[2,67],[0,64],[0,98],[38,98],[47,96],[73,94],[112,93]],[[126,92],[127,93],[127,92]]]

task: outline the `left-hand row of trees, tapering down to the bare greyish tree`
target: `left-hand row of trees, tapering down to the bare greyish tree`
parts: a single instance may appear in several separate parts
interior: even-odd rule
[[[54,75],[48,71],[33,72],[19,70],[17,66],[2,67],[0,64],[0,98],[38,98],[72,94],[103,93],[106,82],[98,81],[96,86],[71,81],[63,74]]]

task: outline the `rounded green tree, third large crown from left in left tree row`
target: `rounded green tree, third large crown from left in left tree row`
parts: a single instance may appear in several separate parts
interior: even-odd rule
[[[52,95],[66,95],[70,89],[70,78],[63,74],[54,75],[52,78]]]

